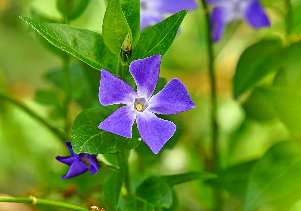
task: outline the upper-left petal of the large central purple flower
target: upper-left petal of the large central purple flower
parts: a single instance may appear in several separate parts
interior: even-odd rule
[[[102,69],[98,97],[101,105],[119,103],[129,105],[135,101],[135,97],[138,95],[129,84]]]

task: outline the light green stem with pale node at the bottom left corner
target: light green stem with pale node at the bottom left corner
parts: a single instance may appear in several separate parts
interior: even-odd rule
[[[39,199],[36,197],[12,197],[12,198],[0,198],[0,202],[16,202],[16,203],[30,203],[30,204],[38,204],[38,205],[48,205],[48,206],[55,206],[65,209],[73,209],[76,211],[88,211],[88,209],[85,209],[80,206],[76,206],[73,204],[68,204],[64,202],[58,202],[58,201],[51,201],[46,199]]]

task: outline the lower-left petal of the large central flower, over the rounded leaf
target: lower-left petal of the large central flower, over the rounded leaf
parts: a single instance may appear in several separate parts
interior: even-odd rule
[[[132,127],[136,119],[134,105],[125,105],[114,111],[98,126],[99,129],[132,138]]]

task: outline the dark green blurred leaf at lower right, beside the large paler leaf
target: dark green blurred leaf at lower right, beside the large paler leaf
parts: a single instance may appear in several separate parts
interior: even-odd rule
[[[242,163],[218,172],[218,178],[205,181],[215,188],[222,188],[243,199],[246,194],[250,172],[256,161]]]

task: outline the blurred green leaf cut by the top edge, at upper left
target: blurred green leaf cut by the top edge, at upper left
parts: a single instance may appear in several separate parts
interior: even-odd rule
[[[57,0],[57,8],[67,20],[78,18],[87,8],[90,0]]]

